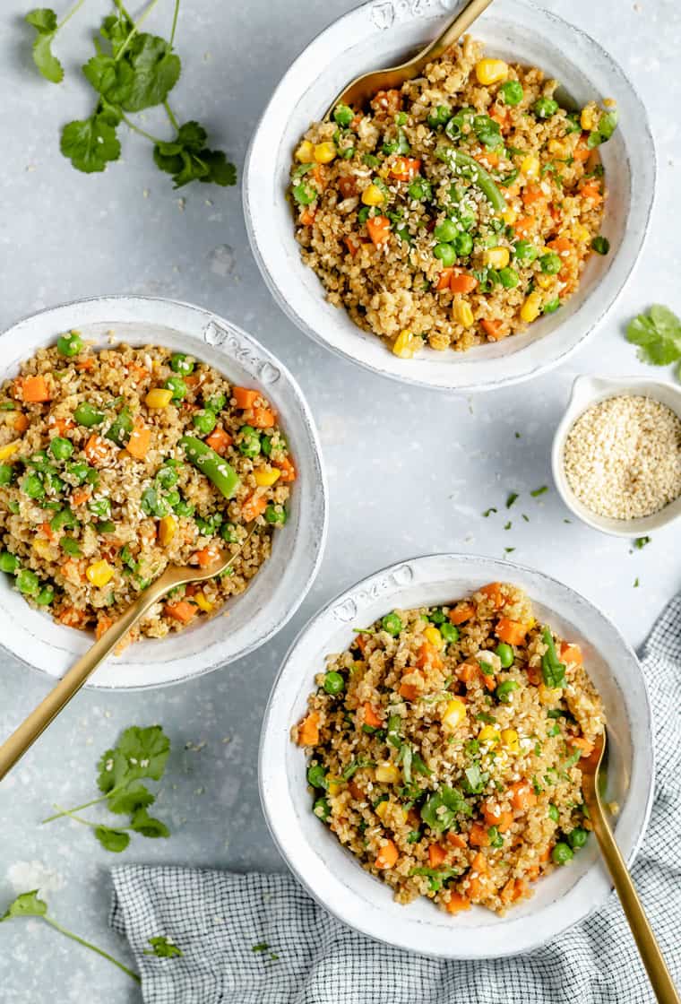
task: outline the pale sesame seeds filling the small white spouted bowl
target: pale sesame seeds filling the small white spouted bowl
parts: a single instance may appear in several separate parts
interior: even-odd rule
[[[681,419],[641,395],[609,398],[575,422],[563,462],[570,487],[592,512],[650,516],[681,495]]]

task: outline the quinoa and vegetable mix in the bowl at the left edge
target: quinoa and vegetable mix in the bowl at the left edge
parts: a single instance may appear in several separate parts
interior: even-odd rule
[[[238,553],[154,604],[129,641],[162,638],[246,589],[295,476],[259,390],[183,352],[95,351],[71,331],[0,388],[0,569],[32,606],[99,637],[167,564]]]

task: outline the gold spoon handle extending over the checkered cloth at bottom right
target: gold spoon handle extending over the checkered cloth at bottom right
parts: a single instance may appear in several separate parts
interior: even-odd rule
[[[660,946],[653,934],[646,913],[627,865],[615,842],[613,831],[605,817],[600,802],[589,804],[594,832],[601,845],[601,852],[608,865],[615,890],[620,898],[629,927],[638,946],[643,965],[646,967],[655,996],[660,1004],[681,1004],[681,998],[667,969]]]

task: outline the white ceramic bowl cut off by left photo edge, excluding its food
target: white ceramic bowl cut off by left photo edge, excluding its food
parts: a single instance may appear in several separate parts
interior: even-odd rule
[[[310,411],[291,373],[255,338],[201,307],[141,296],[100,296],[43,310],[0,338],[0,379],[23,359],[77,328],[97,345],[116,341],[157,344],[204,359],[236,384],[261,387],[281,417],[299,477],[286,528],[275,533],[272,554],[229,616],[216,616],[162,640],[143,640],[100,667],[90,686],[141,688],[179,683],[218,669],[278,632],[310,588],[322,558],[327,525],[326,481]],[[18,659],[52,677],[91,644],[92,636],[55,623],[32,609],[0,575],[0,639]]]

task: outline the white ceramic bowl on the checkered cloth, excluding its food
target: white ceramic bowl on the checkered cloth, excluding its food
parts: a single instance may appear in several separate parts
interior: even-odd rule
[[[537,948],[583,920],[608,897],[611,884],[595,840],[569,867],[537,884],[535,896],[497,917],[474,907],[455,918],[421,899],[403,907],[388,886],[357,863],[312,812],[304,752],[291,727],[305,713],[315,674],[366,626],[394,607],[441,603],[490,580],[526,589],[539,616],[578,642],[603,698],[611,740],[609,797],[621,805],[616,835],[631,863],[653,797],[651,711],[636,656],[615,625],[588,600],[555,579],[509,561],[435,554],[392,565],[337,596],[304,628],[289,651],[265,714],[260,791],[265,815],[289,867],[339,920],[378,941],[422,955],[480,959]]]

